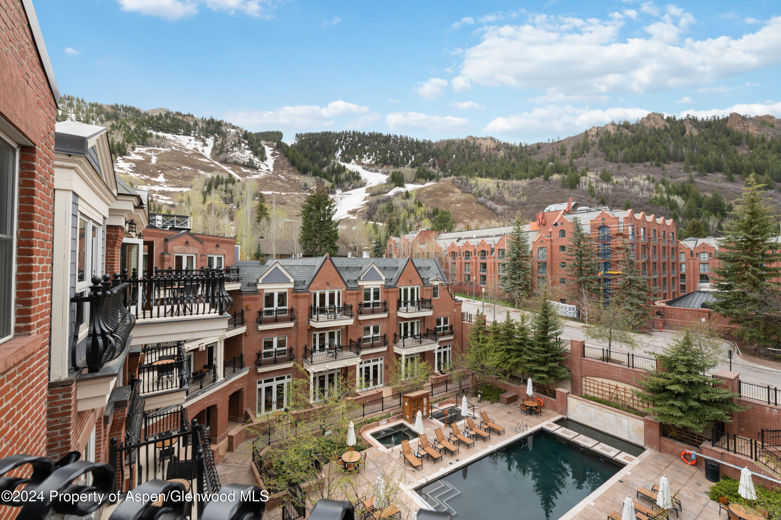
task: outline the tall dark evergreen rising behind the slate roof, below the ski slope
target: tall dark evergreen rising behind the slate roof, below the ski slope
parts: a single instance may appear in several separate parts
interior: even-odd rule
[[[336,255],[339,252],[339,223],[333,220],[336,203],[331,200],[325,187],[317,185],[309,190],[301,204],[301,233],[298,243],[304,256]]]

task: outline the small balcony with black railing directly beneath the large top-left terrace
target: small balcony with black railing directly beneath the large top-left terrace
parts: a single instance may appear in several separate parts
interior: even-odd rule
[[[138,366],[138,389],[144,410],[181,405],[187,396],[186,357],[181,341],[146,345]]]

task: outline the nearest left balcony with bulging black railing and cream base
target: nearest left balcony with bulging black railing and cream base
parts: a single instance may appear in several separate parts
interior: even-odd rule
[[[105,406],[116,386],[119,372],[127,357],[135,317],[127,310],[127,281],[119,275],[92,278],[87,296],[70,299],[76,303],[76,323],[70,345],[70,369],[76,378],[79,412]],[[89,315],[84,316],[84,304]],[[86,322],[87,335],[80,341],[81,325]],[[84,369],[87,373],[84,373]]]

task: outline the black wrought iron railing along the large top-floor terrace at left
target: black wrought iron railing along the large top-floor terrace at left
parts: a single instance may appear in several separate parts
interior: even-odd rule
[[[127,274],[123,274],[123,279]],[[130,278],[127,305],[137,320],[161,317],[221,316],[234,306],[225,290],[222,269],[158,269],[151,276]]]

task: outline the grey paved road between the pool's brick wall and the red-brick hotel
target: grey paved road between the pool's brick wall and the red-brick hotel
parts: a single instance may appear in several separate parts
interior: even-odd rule
[[[471,302],[470,300],[464,299],[463,300],[463,307],[462,310],[464,312],[469,313],[476,313],[477,310],[480,309],[480,300],[477,301],[477,303]],[[504,321],[506,316],[507,310],[505,307],[497,306],[496,310],[496,319],[499,321]],[[493,306],[486,305],[486,314],[489,321],[494,320],[494,309]],[[515,311],[511,311],[510,316],[515,318],[516,320],[519,317],[519,314]],[[590,340],[583,335],[582,327],[583,325],[565,320],[564,321],[564,332],[562,333],[563,339],[579,339],[579,340],[586,340],[587,345],[591,345],[594,347],[607,347],[607,344],[602,344],[598,341]],[[643,346],[641,348],[638,348],[637,351],[635,351],[638,354],[641,354],[644,351],[649,352],[661,352],[662,348],[665,347],[667,342],[671,339],[676,337],[678,333],[673,331],[654,331],[651,334],[647,334],[644,336],[644,339],[642,341]],[[722,343],[722,348],[724,351],[724,356],[722,358],[721,363],[716,366],[715,370],[729,370],[729,359],[727,356],[727,350],[729,348],[734,348],[733,345],[731,345],[728,341],[724,341]],[[613,350],[617,352],[627,352],[626,348],[613,348]],[[735,372],[740,372],[740,379],[744,380],[747,383],[754,383],[754,384],[769,384],[772,387],[781,387],[781,370],[776,370],[773,368],[769,368],[767,366],[761,366],[756,363],[750,363],[747,361],[744,361],[743,359],[739,359],[737,356],[733,357],[733,363],[732,363],[732,370]]]

